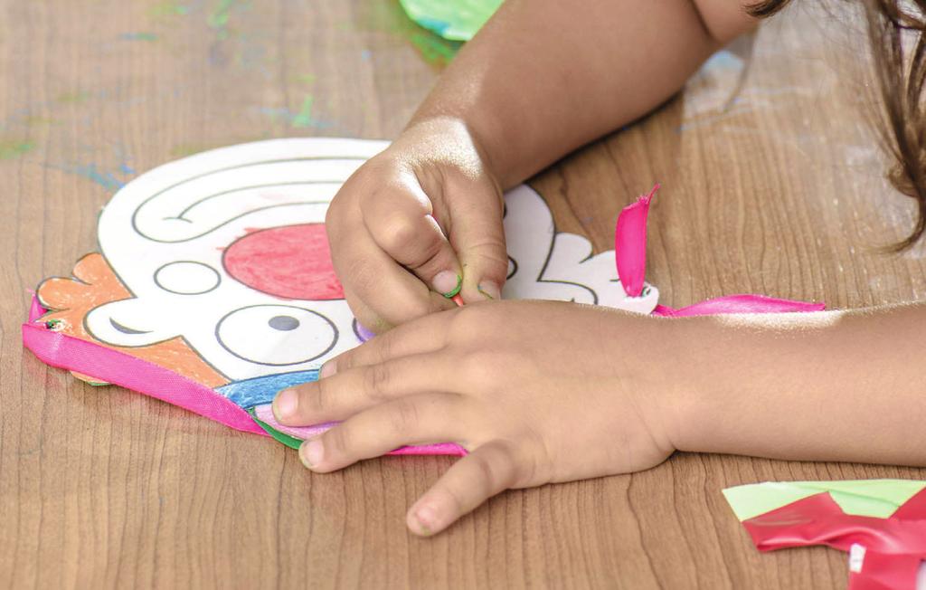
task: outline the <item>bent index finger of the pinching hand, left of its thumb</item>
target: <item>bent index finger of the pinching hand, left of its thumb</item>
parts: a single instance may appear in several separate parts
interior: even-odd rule
[[[434,220],[431,200],[417,181],[385,186],[369,195],[363,220],[382,250],[435,292],[447,298],[459,293],[463,275],[457,253]]]

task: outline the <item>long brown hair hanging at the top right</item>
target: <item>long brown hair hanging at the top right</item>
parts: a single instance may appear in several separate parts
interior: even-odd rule
[[[748,6],[754,17],[769,17],[791,0],[761,0]],[[895,163],[887,177],[917,201],[917,220],[892,249],[914,245],[926,232],[926,0],[862,0],[871,55],[882,99],[884,144]],[[904,41],[905,35],[912,37]]]

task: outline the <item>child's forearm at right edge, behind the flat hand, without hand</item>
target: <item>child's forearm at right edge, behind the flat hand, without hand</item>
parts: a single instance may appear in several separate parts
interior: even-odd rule
[[[680,449],[926,465],[926,306],[683,322]]]

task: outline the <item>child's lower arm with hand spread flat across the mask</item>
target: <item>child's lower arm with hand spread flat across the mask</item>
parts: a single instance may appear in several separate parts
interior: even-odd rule
[[[314,471],[397,446],[470,454],[408,511],[444,529],[508,488],[640,471],[675,449],[926,465],[926,305],[663,319],[550,301],[414,320],[282,392]]]

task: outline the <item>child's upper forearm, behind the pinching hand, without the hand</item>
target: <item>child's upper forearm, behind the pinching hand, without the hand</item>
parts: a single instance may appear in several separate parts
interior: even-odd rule
[[[735,0],[507,0],[412,122],[465,121],[507,187],[657,107],[751,26]]]

